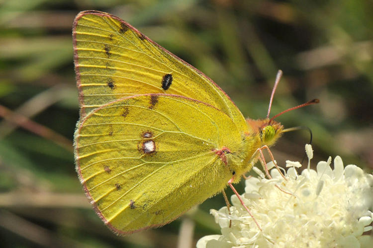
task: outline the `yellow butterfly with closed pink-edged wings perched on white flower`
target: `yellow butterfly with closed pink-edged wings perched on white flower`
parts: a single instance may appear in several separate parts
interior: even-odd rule
[[[118,234],[165,225],[237,183],[283,132],[245,120],[210,78],[118,17],[79,13],[73,40],[76,170]]]

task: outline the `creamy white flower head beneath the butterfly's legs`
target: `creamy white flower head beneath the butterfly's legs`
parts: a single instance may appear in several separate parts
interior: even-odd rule
[[[311,146],[306,150],[310,160]],[[331,157],[319,162],[316,171],[298,175],[299,163],[287,161],[286,180],[276,169],[271,170],[273,179],[263,174],[249,178],[242,199],[262,231],[232,195],[230,214],[227,207],[210,210],[222,235],[201,238],[197,248],[372,248],[373,175],[356,165],[344,167],[339,156],[334,170],[330,163]]]

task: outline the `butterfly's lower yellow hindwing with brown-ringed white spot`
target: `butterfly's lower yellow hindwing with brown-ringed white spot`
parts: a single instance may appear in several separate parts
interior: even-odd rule
[[[162,226],[219,192],[232,172],[214,149],[239,150],[223,112],[181,96],[148,94],[91,112],[75,135],[77,171],[114,232]]]

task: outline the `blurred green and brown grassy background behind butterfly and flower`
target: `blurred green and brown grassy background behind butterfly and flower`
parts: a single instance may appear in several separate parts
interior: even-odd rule
[[[86,9],[114,14],[211,77],[244,116],[313,131],[314,162],[340,155],[373,169],[373,2],[364,0],[0,0],[2,247],[188,247],[218,234],[208,199],[163,228],[118,237],[93,212],[75,173],[78,120],[71,27]],[[272,149],[300,161],[305,131]],[[237,187],[243,192],[242,184]],[[231,195],[231,191],[227,191]]]

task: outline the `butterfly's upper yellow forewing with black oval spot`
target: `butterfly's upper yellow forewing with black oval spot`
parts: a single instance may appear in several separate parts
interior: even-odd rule
[[[210,104],[247,130],[241,112],[209,77],[120,18],[83,11],[74,21],[73,41],[83,117],[115,99],[167,93]]]

